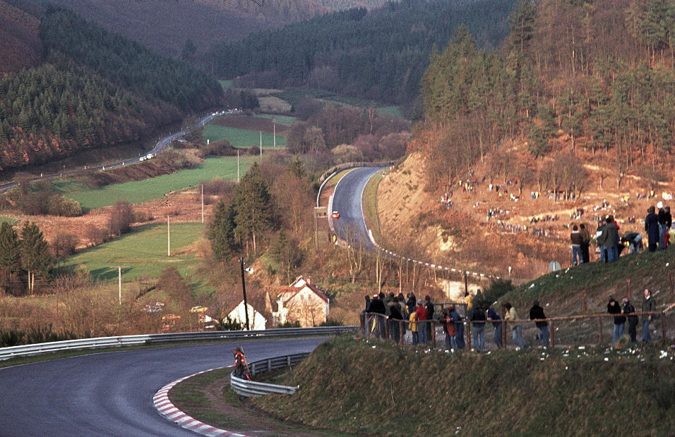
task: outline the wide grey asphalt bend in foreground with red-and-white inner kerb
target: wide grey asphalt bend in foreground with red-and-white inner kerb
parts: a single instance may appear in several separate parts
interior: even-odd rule
[[[160,416],[153,395],[198,371],[309,352],[325,338],[257,340],[82,355],[0,369],[0,436],[196,436]]]

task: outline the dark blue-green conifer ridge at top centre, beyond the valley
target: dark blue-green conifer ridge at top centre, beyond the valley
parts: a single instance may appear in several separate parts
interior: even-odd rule
[[[434,45],[467,25],[479,44],[496,47],[508,32],[513,0],[389,2],[330,13],[282,30],[259,32],[213,49],[217,73],[256,73],[265,86],[309,84],[353,96],[410,102]]]

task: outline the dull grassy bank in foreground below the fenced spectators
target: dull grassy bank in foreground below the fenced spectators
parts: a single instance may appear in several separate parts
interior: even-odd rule
[[[345,336],[275,381],[299,385],[295,395],[253,403],[284,420],[380,436],[667,436],[675,429],[671,353],[568,352],[447,354]]]

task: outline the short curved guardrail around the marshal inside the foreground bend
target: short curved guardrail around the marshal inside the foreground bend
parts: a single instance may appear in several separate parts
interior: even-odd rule
[[[262,371],[272,371],[275,369],[285,369],[298,364],[309,355],[309,352],[302,352],[294,355],[284,355],[282,357],[274,357],[268,359],[261,359],[253,363],[249,363],[251,376]],[[251,398],[253,396],[264,395],[292,395],[299,386],[279,386],[277,384],[261,383],[256,381],[246,381],[246,379],[239,378],[234,375],[234,372],[229,375],[229,385],[239,396]]]

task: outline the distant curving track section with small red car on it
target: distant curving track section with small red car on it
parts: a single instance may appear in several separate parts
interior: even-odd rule
[[[364,222],[361,199],[366,183],[378,171],[386,167],[359,167],[347,173],[335,186],[333,194],[333,211],[340,213],[340,218],[333,220],[337,236],[347,242],[362,243],[367,249],[374,249],[368,238],[368,230]],[[332,212],[332,211],[331,211]]]

